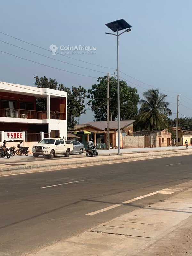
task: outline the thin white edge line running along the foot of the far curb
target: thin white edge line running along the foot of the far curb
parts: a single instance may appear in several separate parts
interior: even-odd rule
[[[188,156],[185,154],[180,154],[180,156]],[[114,163],[106,163],[106,164],[120,164],[120,163],[126,163],[126,162],[136,162],[136,161],[144,161],[144,160],[153,160],[153,159],[158,159],[158,158],[168,158],[168,157],[175,157],[175,156],[164,156],[164,157],[152,157],[152,158],[145,158],[145,159],[137,159],[137,160],[129,160],[129,161],[120,161],[120,162],[114,162]],[[59,168],[59,169],[53,169],[53,170],[43,170],[43,171],[34,171],[34,172],[22,172],[22,173],[13,173],[13,174],[5,174],[5,175],[0,175],[1,177],[6,177],[6,176],[13,176],[13,175],[22,175],[22,174],[28,174],[28,173],[38,173],[38,172],[51,172],[51,171],[67,171],[69,169],[75,169],[75,168],[85,168],[85,167],[92,167],[92,166],[97,166],[97,165],[105,165],[105,164],[91,164],[91,165],[85,165],[85,166],[73,166],[73,167],[68,167],[68,168]]]

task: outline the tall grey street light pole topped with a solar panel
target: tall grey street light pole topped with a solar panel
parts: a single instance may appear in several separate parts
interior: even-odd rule
[[[117,154],[121,155],[120,148],[121,148],[121,141],[120,141],[120,90],[119,90],[119,36],[125,32],[131,31],[131,25],[129,25],[124,19],[116,20],[110,23],[105,24],[108,28],[110,28],[113,32],[117,32],[117,34],[113,33],[105,33],[109,35],[117,36],[117,127],[118,127],[118,151]],[[128,28],[128,29],[126,29]],[[124,32],[119,34],[120,30],[126,29]]]

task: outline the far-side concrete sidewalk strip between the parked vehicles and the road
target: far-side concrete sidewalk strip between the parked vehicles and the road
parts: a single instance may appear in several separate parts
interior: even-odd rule
[[[192,154],[192,148],[188,149],[177,149],[177,150],[156,150],[156,151],[144,151],[144,152],[131,152],[129,154],[104,154],[103,156],[98,157],[82,157],[82,155],[77,158],[57,158],[54,159],[43,159],[37,161],[15,161],[14,157],[1,160],[0,162],[0,176],[17,174],[17,173],[26,173],[26,172],[37,172],[37,171],[48,171],[56,169],[67,169],[73,167],[83,167],[91,166],[98,164],[111,164],[117,162],[127,162],[143,159],[151,159],[158,157],[167,157],[167,156],[181,156]],[[20,157],[20,156],[17,156]],[[29,158],[30,159],[30,158]]]

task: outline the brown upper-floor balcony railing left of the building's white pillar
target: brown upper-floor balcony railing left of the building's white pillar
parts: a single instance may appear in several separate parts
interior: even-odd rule
[[[26,119],[47,119],[46,111],[35,111],[25,109],[0,108],[0,117],[26,118]]]

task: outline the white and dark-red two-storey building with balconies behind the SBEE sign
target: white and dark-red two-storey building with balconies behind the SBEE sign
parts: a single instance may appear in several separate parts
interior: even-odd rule
[[[36,99],[45,99],[45,111],[36,110]],[[25,132],[25,141],[40,140],[40,132],[65,139],[66,102],[63,91],[0,82],[0,131]]]

